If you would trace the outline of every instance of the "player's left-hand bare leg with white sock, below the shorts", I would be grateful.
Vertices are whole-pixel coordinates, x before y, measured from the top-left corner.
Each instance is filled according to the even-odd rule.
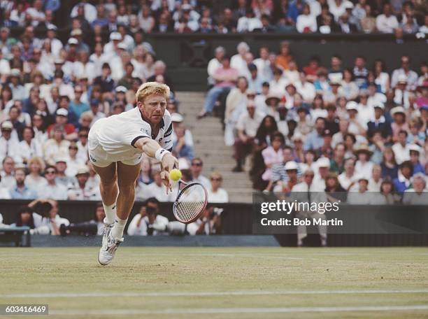
[[[106,212],[106,223],[113,224],[116,218],[116,199],[117,199],[117,173],[116,163],[113,162],[106,167],[99,167],[92,164],[101,179],[99,190],[103,201],[104,211]]]

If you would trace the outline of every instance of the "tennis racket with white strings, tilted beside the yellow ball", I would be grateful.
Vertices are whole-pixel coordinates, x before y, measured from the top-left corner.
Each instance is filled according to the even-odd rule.
[[[178,194],[173,204],[173,213],[179,222],[190,224],[204,212],[208,193],[201,183],[185,183],[178,180]]]

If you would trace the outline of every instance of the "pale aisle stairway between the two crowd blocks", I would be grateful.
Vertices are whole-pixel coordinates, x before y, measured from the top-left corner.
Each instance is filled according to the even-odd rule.
[[[204,104],[202,92],[177,92],[180,113],[185,125],[193,134],[194,154],[204,161],[204,176],[219,171],[223,176],[223,187],[229,193],[231,202],[250,202],[252,187],[247,172],[233,173],[235,161],[233,148],[224,145],[222,125],[218,118],[197,120],[197,114]]]

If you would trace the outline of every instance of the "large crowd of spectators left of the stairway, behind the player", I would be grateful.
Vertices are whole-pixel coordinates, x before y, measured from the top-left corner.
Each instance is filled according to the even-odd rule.
[[[90,127],[134,108],[138,87],[157,81],[171,87],[167,110],[180,169],[207,187],[208,201],[227,201],[222,176],[201,175],[166,65],[143,41],[148,6],[138,6],[134,25],[128,13],[136,2],[131,9],[124,1],[78,3],[63,43],[54,24],[58,2],[0,1],[0,199],[100,200],[99,176],[87,158]],[[23,27],[19,36],[14,27]],[[166,195],[159,169],[157,161],[143,159],[138,200],[175,199]]]

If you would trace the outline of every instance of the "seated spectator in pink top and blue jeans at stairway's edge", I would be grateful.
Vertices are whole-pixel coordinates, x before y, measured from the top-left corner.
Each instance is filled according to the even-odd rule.
[[[204,110],[199,113],[198,118],[204,118],[208,113],[213,112],[215,102],[220,97],[220,94],[229,92],[235,86],[236,80],[238,80],[238,70],[230,66],[229,57],[224,56],[222,58],[222,66],[215,71],[213,78],[215,85],[208,91]]]

